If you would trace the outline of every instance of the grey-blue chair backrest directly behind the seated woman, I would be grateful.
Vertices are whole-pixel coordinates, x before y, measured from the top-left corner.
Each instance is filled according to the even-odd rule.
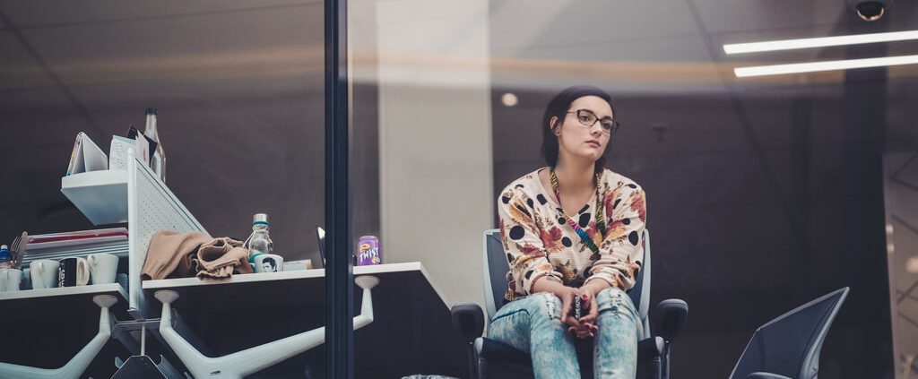
[[[498,309],[504,305],[504,294],[507,292],[507,272],[509,262],[507,252],[504,251],[500,241],[500,231],[490,229],[485,231],[485,246],[483,258],[485,264],[485,306],[487,318],[494,318]],[[650,232],[644,229],[644,261],[638,271],[633,288],[628,291],[634,307],[638,308],[644,326],[644,338],[650,336],[650,322],[647,310],[650,308]]]

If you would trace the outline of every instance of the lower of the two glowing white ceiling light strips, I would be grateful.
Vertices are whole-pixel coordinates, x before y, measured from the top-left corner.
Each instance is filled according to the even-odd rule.
[[[845,61],[814,61],[812,63],[775,64],[771,66],[738,67],[733,69],[737,78],[748,76],[780,75],[785,73],[821,72],[833,70],[863,69],[868,67],[918,64],[918,55],[868,58]]]

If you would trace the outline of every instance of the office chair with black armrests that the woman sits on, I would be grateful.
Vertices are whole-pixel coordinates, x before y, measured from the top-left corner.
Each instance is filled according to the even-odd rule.
[[[488,319],[494,318],[504,305],[507,291],[509,263],[497,229],[485,232],[485,306]],[[639,330],[638,370],[640,379],[668,379],[669,350],[673,340],[685,325],[689,305],[679,299],[660,302],[654,312],[656,335],[651,334],[648,308],[650,307],[650,233],[644,231],[644,261],[634,287],[628,292],[641,317]],[[532,360],[529,351],[519,351],[508,344],[482,337],[485,329],[484,312],[476,304],[453,306],[453,328],[469,345],[468,365],[472,378],[531,378]],[[592,375],[592,340],[578,340],[577,357],[584,377]]]

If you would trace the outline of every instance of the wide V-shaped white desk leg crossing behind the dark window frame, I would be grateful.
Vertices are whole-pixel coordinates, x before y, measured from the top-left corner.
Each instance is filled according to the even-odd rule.
[[[373,322],[373,295],[370,290],[379,284],[379,279],[364,275],[357,277],[354,281],[364,289],[360,316],[353,318],[353,329],[356,330]],[[160,318],[162,339],[169,344],[169,347],[175,351],[175,355],[197,378],[241,379],[245,375],[261,371],[325,342],[325,327],[321,327],[222,357],[207,357],[173,329],[172,303],[178,299],[178,294],[164,290],[157,291],[155,296],[162,302],[162,317]]]

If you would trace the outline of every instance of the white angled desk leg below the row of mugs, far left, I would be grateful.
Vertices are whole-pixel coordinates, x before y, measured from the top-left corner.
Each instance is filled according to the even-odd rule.
[[[0,363],[0,379],[76,379],[80,377],[111,337],[111,318],[108,315],[108,308],[118,303],[118,299],[113,295],[95,295],[93,302],[102,309],[99,312],[99,332],[73,356],[70,362],[57,369]]]

